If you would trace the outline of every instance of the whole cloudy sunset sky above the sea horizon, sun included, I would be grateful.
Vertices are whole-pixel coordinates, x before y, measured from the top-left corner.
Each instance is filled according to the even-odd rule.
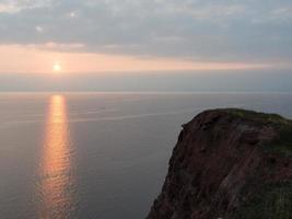
[[[291,69],[291,0],[0,0],[0,91],[292,91]]]

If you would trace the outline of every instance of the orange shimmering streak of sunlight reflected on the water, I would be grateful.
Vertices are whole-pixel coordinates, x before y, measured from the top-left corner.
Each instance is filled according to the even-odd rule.
[[[38,184],[42,219],[69,218],[74,209],[71,169],[66,100],[62,95],[52,95],[49,100]]]

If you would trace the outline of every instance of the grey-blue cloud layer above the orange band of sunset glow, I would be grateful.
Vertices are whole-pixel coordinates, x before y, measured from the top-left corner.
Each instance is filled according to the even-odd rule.
[[[0,1],[1,44],[207,61],[289,61],[289,0]],[[54,49],[59,49],[55,47]]]

